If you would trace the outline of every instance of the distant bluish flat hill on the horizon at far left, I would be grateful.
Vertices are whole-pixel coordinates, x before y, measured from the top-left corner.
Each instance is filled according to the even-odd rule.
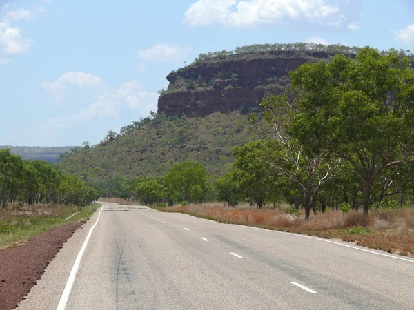
[[[60,154],[68,152],[72,147],[17,147],[10,145],[0,146],[0,149],[10,149],[13,154],[20,155],[23,159],[41,159],[43,161],[49,161],[57,163],[57,158]]]

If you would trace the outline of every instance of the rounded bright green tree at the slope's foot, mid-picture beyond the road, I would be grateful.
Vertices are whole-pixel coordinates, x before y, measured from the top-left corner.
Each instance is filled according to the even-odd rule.
[[[198,185],[203,191],[206,187],[206,168],[201,163],[184,161],[170,169],[165,179],[166,187],[176,199],[190,201],[199,192]],[[198,194],[197,194],[198,198]]]

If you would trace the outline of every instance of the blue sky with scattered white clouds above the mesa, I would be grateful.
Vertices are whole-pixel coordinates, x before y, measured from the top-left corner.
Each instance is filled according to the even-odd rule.
[[[414,1],[0,0],[0,145],[95,145],[200,53],[304,41],[414,50]]]

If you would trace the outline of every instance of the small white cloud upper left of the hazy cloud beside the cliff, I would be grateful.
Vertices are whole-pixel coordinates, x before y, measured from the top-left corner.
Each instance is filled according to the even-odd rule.
[[[67,71],[55,81],[42,83],[42,86],[55,96],[62,97],[63,90],[67,85],[74,85],[79,88],[97,87],[103,82],[103,79],[90,73]]]

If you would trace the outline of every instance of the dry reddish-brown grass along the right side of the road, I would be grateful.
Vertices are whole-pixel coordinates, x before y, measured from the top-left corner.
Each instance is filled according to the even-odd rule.
[[[190,213],[190,206],[157,208],[161,211]],[[368,218],[362,212],[343,213],[327,211],[316,214],[305,222],[290,216],[283,209],[253,209],[251,207],[226,207],[220,203],[193,205],[191,214],[201,218],[308,234],[323,238],[339,238],[357,245],[382,249],[395,254],[414,257],[414,209],[371,211]],[[363,226],[371,234],[349,234],[348,229]]]

